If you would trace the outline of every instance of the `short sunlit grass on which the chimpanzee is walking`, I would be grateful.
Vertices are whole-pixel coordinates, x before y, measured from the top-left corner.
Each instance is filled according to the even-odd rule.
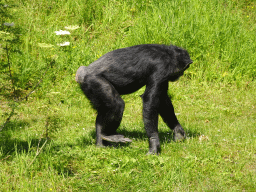
[[[133,143],[116,148],[95,147],[95,112],[77,87],[76,101],[62,103],[52,93],[49,101],[20,105],[2,132],[2,190],[255,190],[255,84],[241,89],[181,79],[171,85],[189,138],[174,143],[160,121],[159,156],[145,155],[148,143],[136,93],[124,97],[119,129]],[[50,139],[36,156],[46,141],[47,121]]]

